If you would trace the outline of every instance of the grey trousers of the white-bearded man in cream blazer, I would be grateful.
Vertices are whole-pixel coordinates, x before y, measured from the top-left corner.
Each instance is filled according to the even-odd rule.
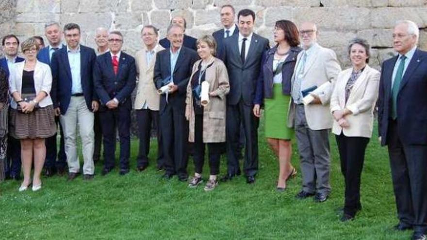
[[[304,105],[298,104],[295,109],[295,136],[301,159],[302,190],[329,194],[329,129],[310,129]]]

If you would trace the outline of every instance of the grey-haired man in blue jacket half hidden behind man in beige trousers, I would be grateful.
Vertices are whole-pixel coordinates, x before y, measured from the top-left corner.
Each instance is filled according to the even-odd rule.
[[[50,22],[45,25],[45,35],[48,39],[49,45],[37,53],[37,60],[50,65],[52,54],[63,48],[64,45],[61,43],[61,27],[57,22]],[[50,93],[52,95],[52,93]],[[55,117],[55,122],[58,125],[59,116]],[[61,140],[59,142],[59,152],[57,153],[56,134],[47,138],[46,144],[46,160],[44,165],[44,176],[53,176],[56,172],[62,176],[65,174],[66,169],[66,154],[64,147],[64,131],[61,124],[59,124]],[[58,161],[56,161],[56,154],[58,154]]]

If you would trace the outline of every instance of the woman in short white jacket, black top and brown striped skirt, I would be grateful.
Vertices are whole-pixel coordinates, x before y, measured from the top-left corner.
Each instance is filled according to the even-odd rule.
[[[24,180],[19,192],[31,184],[31,167],[34,159],[33,191],[41,188],[40,173],[46,157],[45,138],[53,136],[56,125],[52,99],[49,92],[52,74],[48,64],[36,60],[39,47],[30,38],[21,44],[25,61],[14,64],[10,71],[10,134],[21,142],[21,160]]]

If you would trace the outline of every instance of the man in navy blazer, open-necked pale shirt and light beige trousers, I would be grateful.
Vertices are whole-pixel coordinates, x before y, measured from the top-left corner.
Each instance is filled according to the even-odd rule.
[[[94,112],[98,111],[98,97],[93,83],[95,50],[80,44],[80,27],[75,23],[64,26],[67,46],[52,54],[51,97],[56,115],[61,115],[68,163],[68,180],[80,173],[77,152],[77,127],[82,139],[83,179],[94,176]],[[78,126],[77,126],[78,125]]]

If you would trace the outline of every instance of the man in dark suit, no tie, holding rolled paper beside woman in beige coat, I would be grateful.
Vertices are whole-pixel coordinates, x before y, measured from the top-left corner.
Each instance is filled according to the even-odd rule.
[[[169,179],[178,174],[180,181],[187,181],[188,122],[185,119],[185,96],[188,80],[197,61],[197,52],[182,46],[184,28],[172,24],[167,28],[170,48],[157,53],[154,82],[160,89],[170,84],[169,92],[160,97],[160,128],[166,173]]]

